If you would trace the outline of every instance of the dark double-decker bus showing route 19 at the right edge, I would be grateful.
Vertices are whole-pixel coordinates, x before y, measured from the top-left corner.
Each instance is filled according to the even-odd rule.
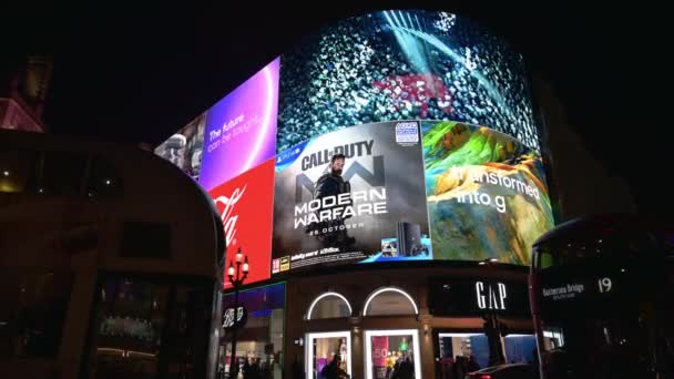
[[[533,245],[542,379],[674,378],[674,228],[635,215],[575,219]]]

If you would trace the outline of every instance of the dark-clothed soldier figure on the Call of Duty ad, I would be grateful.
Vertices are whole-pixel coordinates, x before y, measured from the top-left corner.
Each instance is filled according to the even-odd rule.
[[[314,199],[323,199],[329,196],[337,197],[337,195],[351,192],[350,183],[341,177],[341,171],[344,170],[346,156],[344,154],[333,155],[328,165],[328,173],[321,175],[316,181],[316,185],[314,186]],[[351,204],[353,199],[349,197],[349,204],[347,206],[350,206]],[[345,206],[336,204],[329,207],[321,207],[318,209],[318,213],[320,211],[337,207],[344,208]],[[356,238],[348,236],[346,226],[344,225],[344,221],[349,217],[350,215],[346,217],[336,216],[330,221],[312,223],[307,226],[306,232],[316,232],[315,235],[318,240],[320,240],[323,247],[338,247],[340,252],[348,252],[356,242]]]

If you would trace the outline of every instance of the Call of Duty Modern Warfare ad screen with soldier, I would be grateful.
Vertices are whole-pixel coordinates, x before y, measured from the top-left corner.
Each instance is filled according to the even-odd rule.
[[[276,157],[272,273],[432,259],[416,121],[343,129]]]

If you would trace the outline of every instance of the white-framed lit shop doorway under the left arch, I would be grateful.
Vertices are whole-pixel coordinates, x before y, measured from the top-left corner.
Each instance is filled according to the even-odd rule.
[[[324,379],[323,370],[339,356],[338,369],[351,376],[351,334],[345,331],[306,335],[307,379]]]

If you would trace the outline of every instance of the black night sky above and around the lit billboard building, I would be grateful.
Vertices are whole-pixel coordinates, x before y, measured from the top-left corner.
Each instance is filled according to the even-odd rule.
[[[666,215],[674,141],[662,60],[671,21],[646,2],[588,2],[23,1],[6,13],[16,17],[4,18],[3,35],[6,59],[53,54],[53,133],[155,143],[321,23],[368,9],[440,8],[510,40],[552,84],[586,148],[630,183],[640,211]]]

